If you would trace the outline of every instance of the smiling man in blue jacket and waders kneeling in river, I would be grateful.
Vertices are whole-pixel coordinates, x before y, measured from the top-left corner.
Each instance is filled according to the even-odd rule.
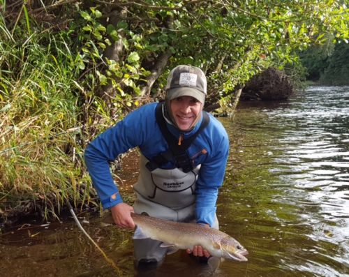
[[[144,105],[96,137],[85,151],[89,174],[104,209],[119,227],[135,227],[131,213],[218,229],[216,200],[228,158],[228,135],[202,109],[207,81],[200,68],[177,66],[168,76],[165,103]],[[133,207],[122,201],[109,162],[128,149],[140,149],[140,176]],[[159,263],[167,249],[160,241],[135,239],[136,267]],[[188,249],[209,257],[201,246]]]

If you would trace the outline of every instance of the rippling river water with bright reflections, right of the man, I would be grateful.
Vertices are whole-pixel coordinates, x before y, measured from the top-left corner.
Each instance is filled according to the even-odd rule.
[[[242,103],[225,126],[231,189],[220,201],[245,227],[247,276],[349,276],[349,88]]]

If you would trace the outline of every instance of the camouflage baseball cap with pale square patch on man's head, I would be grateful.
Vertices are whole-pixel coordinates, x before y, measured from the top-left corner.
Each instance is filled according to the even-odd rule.
[[[180,96],[192,96],[201,103],[205,103],[205,97],[207,95],[205,73],[195,66],[176,66],[168,75],[165,91],[168,100]]]

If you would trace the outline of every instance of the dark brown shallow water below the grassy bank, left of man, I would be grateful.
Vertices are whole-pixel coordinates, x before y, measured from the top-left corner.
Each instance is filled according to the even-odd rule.
[[[86,216],[93,218],[80,217],[80,221],[91,237],[121,269],[133,271],[131,234],[104,225],[96,213]],[[72,220],[44,225],[32,222],[0,239],[1,277],[116,276]]]

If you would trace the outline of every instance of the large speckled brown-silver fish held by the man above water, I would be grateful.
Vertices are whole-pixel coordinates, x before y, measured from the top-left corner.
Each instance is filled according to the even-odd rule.
[[[202,246],[213,257],[246,262],[247,250],[228,234],[195,223],[178,223],[170,220],[131,214],[137,225],[134,239],[162,241],[161,247],[169,247],[168,254],[178,249]],[[211,259],[210,259],[211,260]]]

